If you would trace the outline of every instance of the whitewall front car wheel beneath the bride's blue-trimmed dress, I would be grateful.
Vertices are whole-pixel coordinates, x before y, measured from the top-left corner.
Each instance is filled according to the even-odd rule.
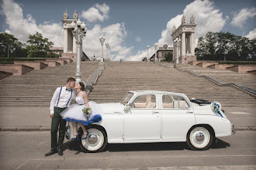
[[[106,148],[107,137],[106,132],[102,128],[98,126],[91,126],[87,128],[87,131],[88,138],[82,140],[81,135],[79,135],[78,138],[82,151],[95,153],[102,151],[104,148]],[[80,134],[83,134],[83,132],[81,131]]]

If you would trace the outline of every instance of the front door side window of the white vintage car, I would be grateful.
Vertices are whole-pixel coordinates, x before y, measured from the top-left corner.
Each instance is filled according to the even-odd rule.
[[[154,95],[140,95],[133,101],[130,107],[144,109],[154,108],[156,107],[156,97]]]

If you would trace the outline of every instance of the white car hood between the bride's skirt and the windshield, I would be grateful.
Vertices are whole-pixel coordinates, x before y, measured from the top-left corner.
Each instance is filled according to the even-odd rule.
[[[122,114],[124,106],[121,103],[99,104],[104,114]]]

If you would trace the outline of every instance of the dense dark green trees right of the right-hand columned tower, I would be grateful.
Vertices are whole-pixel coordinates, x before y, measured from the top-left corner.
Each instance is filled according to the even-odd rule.
[[[195,55],[202,60],[255,61],[256,39],[230,32],[208,32],[205,37],[199,37]]]

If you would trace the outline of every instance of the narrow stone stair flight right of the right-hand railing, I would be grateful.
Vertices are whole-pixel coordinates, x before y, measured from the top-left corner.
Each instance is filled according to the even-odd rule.
[[[192,66],[190,64],[179,64],[182,70],[192,70],[200,75],[213,76],[217,80],[225,83],[239,83],[253,90],[256,90],[256,75],[251,73],[236,73],[231,70],[216,70],[210,68],[202,68],[199,66]]]

